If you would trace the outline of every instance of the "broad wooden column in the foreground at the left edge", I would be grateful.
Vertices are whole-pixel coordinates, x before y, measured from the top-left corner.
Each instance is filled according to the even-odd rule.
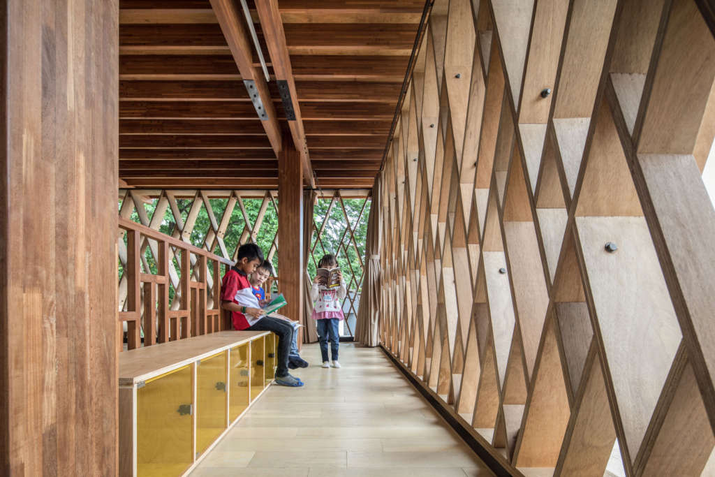
[[[0,475],[117,473],[118,16],[0,9]]]

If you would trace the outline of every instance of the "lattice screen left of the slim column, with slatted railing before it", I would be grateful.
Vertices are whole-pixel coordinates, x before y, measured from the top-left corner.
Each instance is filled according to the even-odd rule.
[[[211,333],[221,328],[219,320],[218,290],[220,277],[224,270],[220,264],[228,265],[235,261],[238,247],[245,242],[258,242],[267,249],[267,260],[272,263],[277,259],[277,197],[275,191],[170,191],[170,190],[121,190],[119,192],[120,237],[117,242],[119,250],[119,311],[120,319],[127,320],[127,345],[129,349],[139,346],[139,320],[144,330],[147,323],[144,320],[147,310],[155,310],[158,315],[158,341],[187,338],[191,335]],[[249,203],[252,202],[252,203]],[[238,206],[238,207],[237,207]],[[249,210],[252,207],[252,212]],[[147,210],[148,209],[148,210]],[[265,220],[267,212],[272,210],[271,220]],[[149,212],[151,211],[151,212]],[[127,245],[133,240],[132,234],[125,231],[131,228],[132,220],[136,220],[146,229],[139,238],[137,260],[139,261],[139,279],[133,272],[136,267],[128,267],[127,259],[132,258],[132,250]],[[123,224],[123,226],[122,226]],[[225,237],[230,226],[238,227],[240,232],[232,234],[234,242],[227,244]],[[156,231],[156,235],[149,232]],[[159,233],[159,232],[163,232]],[[138,232],[137,232],[138,233]],[[163,235],[169,235],[174,242],[168,243],[168,259],[159,250]],[[184,270],[184,257],[189,257],[190,269]],[[133,260],[133,259],[132,259]],[[166,261],[166,272],[159,270]],[[126,270],[126,272],[125,272]],[[164,275],[166,278],[156,278]],[[185,280],[182,277],[187,277]],[[276,280],[275,267],[272,281]],[[134,288],[129,290],[129,282],[144,283],[139,301],[133,296]],[[155,282],[158,285],[159,297],[167,294],[168,310],[163,310],[162,300],[157,295],[146,300],[148,293],[154,293],[154,288],[147,285]],[[137,287],[139,285],[136,285]],[[269,287],[272,286],[270,283]],[[165,290],[164,290],[165,288]],[[192,294],[187,300],[187,292]],[[195,290],[195,291],[194,291]],[[170,296],[169,296],[170,295]],[[157,301],[156,308],[147,303]],[[131,310],[137,310],[137,320]],[[192,313],[189,313],[191,311]],[[199,313],[194,318],[194,314]],[[207,325],[200,317],[215,317],[208,320]],[[164,318],[166,317],[166,318]],[[164,334],[162,323],[167,325],[171,333]],[[195,327],[195,328],[194,328]],[[147,335],[150,333],[144,333]],[[144,337],[144,345],[154,343],[153,339]]]

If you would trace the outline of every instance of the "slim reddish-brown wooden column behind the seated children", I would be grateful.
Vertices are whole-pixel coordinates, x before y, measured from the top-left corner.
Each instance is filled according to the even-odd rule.
[[[278,277],[288,304],[284,314],[303,322],[303,174],[289,136],[278,154]]]

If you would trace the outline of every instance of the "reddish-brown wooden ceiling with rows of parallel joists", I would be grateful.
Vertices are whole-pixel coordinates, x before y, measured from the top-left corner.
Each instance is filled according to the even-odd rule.
[[[425,1],[280,0],[271,11],[275,1],[248,1],[275,112],[260,121],[242,80],[260,89],[265,79],[239,0],[120,0],[127,185],[277,187],[276,138],[287,134],[299,151],[307,143],[304,175],[312,169],[317,186],[372,187]],[[276,79],[295,82],[296,121]]]

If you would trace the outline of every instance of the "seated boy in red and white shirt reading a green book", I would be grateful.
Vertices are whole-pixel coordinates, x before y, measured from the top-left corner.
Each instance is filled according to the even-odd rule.
[[[285,320],[263,315],[260,304],[253,295],[248,275],[263,262],[263,252],[258,245],[248,243],[238,249],[236,265],[230,268],[221,282],[221,308],[231,312],[233,328],[248,331],[272,331],[278,337],[278,363],[275,383],[294,388],[302,381],[288,373],[288,352],[293,341],[293,327]]]

